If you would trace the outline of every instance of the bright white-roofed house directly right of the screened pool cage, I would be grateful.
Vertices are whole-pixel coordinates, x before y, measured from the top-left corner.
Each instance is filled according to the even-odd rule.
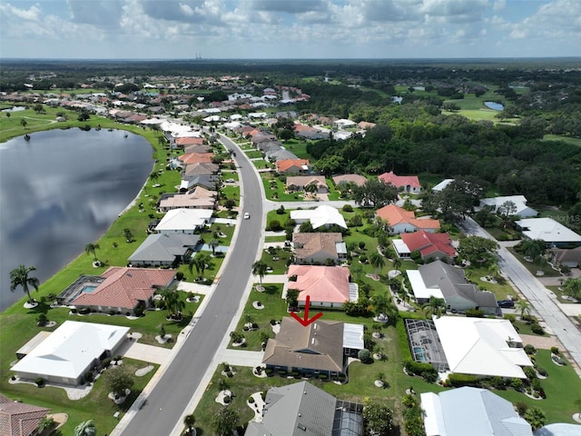
[[[533,366],[522,339],[508,320],[434,317],[450,372],[526,379]]]

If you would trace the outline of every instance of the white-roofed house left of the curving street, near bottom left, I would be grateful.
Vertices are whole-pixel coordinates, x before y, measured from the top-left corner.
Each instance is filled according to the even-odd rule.
[[[23,379],[78,384],[104,356],[125,341],[129,327],[65,321],[11,369]]]

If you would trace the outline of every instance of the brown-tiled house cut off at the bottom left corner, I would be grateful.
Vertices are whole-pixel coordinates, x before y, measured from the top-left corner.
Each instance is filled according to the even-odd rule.
[[[11,400],[0,393],[0,434],[32,436],[50,409]]]

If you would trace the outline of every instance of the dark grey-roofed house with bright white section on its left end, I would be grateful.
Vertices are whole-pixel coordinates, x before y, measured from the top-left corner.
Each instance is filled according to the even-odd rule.
[[[434,261],[406,273],[418,304],[425,304],[430,297],[436,297],[444,299],[447,310],[451,312],[479,309],[487,315],[502,313],[494,293],[478,291],[474,283],[468,282],[461,268]]]

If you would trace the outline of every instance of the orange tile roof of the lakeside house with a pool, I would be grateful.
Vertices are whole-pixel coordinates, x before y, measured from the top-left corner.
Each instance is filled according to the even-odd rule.
[[[72,304],[133,310],[140,300],[151,298],[157,287],[172,282],[174,275],[172,270],[112,266],[103,272],[105,280],[94,292],[81,293]]]

